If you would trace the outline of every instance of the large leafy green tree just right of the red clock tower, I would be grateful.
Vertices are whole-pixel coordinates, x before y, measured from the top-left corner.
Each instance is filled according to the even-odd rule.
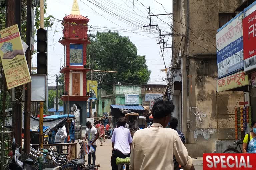
[[[137,47],[129,37],[118,32],[97,32],[90,36],[87,47],[87,65],[95,70],[118,71],[118,73],[93,72],[93,80],[100,87],[112,92],[112,84],[146,84],[151,71],[146,65],[146,56],[137,54]],[[88,74],[88,80],[91,79]]]

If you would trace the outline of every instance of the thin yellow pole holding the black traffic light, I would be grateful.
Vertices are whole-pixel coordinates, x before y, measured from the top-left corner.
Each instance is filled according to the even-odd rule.
[[[44,0],[40,0],[40,28],[44,28]],[[48,97],[48,96],[46,96]],[[44,102],[40,102],[39,113],[39,146],[43,148],[43,117],[44,117]]]

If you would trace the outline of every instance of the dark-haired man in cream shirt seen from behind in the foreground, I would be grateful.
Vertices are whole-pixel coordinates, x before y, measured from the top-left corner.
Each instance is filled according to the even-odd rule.
[[[153,124],[135,132],[131,148],[130,170],[173,170],[173,155],[184,170],[195,170],[192,159],[176,130],[168,125],[174,105],[155,102]]]

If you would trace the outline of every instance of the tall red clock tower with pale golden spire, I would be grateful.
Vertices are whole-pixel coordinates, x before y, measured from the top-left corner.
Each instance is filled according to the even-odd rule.
[[[80,124],[86,124],[86,48],[90,44],[87,37],[89,19],[80,15],[77,0],[74,0],[71,14],[62,20],[63,37],[59,42],[64,46],[64,114],[70,113],[75,104],[80,110]]]

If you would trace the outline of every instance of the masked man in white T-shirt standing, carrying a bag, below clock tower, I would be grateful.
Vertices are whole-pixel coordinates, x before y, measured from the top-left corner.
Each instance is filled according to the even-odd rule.
[[[95,152],[93,153],[89,153],[88,154],[88,164],[91,164],[91,160],[92,160],[92,164],[95,165],[95,161],[96,161],[96,148],[97,148],[97,139],[99,137],[97,129],[92,126],[91,122],[86,122],[86,132],[85,132],[85,140],[88,139],[88,148],[90,150],[91,145],[94,147]]]

